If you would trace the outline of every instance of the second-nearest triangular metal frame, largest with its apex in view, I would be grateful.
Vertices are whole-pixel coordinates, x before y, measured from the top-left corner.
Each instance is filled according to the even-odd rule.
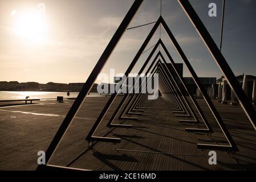
[[[197,147],[202,148],[202,149],[238,151],[238,148],[237,148],[233,138],[231,137],[231,135],[229,134],[229,131],[227,130],[227,128],[225,126],[225,123],[222,121],[222,118],[218,114],[218,112],[217,112],[216,108],[214,107],[212,101],[210,100],[208,94],[204,90],[204,87],[202,86],[201,81],[199,80],[196,72],[194,72],[194,69],[192,68],[192,65],[189,63],[188,59],[185,56],[185,53],[182,51],[182,49],[181,49],[180,45],[178,44],[176,38],[174,38],[172,32],[170,31],[169,27],[167,26],[167,24],[165,23],[165,21],[164,21],[164,19],[162,18],[161,15],[160,15],[159,19],[157,20],[157,22],[155,23],[155,25],[153,26],[152,30],[149,32],[149,35],[145,39],[143,45],[141,46],[141,48],[137,52],[135,58],[133,59],[132,63],[129,65],[129,67],[128,67],[128,69],[127,69],[127,71],[125,72],[124,75],[127,77],[128,73],[130,73],[132,71],[132,68],[137,63],[137,60],[139,60],[139,57],[140,57],[141,53],[144,51],[144,49],[147,46],[149,40],[151,40],[153,34],[157,30],[157,28],[160,26],[160,24],[163,26],[164,30],[166,31],[166,34],[169,36],[169,38],[170,38],[171,42],[173,43],[173,46],[176,48],[177,52],[180,54],[180,56],[182,58],[182,61],[185,63],[186,67],[188,68],[190,74],[193,77],[193,80],[196,82],[197,87],[201,90],[201,93],[204,97],[204,100],[206,101],[206,104],[208,104],[209,109],[212,111],[212,114],[214,115],[214,118],[216,119],[218,125],[220,126],[220,128],[222,130],[222,133],[225,135],[227,141],[229,142],[229,146],[220,146],[218,144],[197,144]],[[165,48],[165,46],[162,46],[162,47]],[[92,126],[91,131],[87,135],[86,140],[88,140],[88,142],[94,142],[94,141],[112,142],[112,143],[120,142],[120,138],[106,138],[106,137],[95,137],[95,136],[93,136],[97,127],[99,126],[100,122],[102,121],[104,115],[107,113],[109,107],[112,105],[112,103],[115,100],[118,93],[119,92],[112,94],[111,97],[109,98],[107,104],[104,106],[104,108],[101,111],[99,117],[97,118],[94,126]]]

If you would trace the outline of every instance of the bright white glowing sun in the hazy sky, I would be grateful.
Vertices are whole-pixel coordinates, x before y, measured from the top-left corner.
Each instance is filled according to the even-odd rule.
[[[46,38],[46,18],[37,11],[24,11],[15,15],[14,32],[16,35],[28,39],[40,41]]]

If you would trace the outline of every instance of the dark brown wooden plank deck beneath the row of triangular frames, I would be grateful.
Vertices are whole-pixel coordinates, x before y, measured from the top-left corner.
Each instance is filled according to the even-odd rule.
[[[241,107],[214,101],[239,152],[231,155],[216,151],[217,165],[210,165],[209,151],[198,150],[196,144],[225,144],[226,141],[203,100],[198,102],[213,126],[212,136],[186,132],[186,127],[197,126],[179,123],[181,117],[175,117],[161,97],[151,101],[142,115],[136,115],[138,121],[124,122],[133,125],[132,129],[109,129],[105,127],[108,118],[122,97],[117,97],[95,133],[100,137],[121,138],[121,143],[98,142],[92,149],[88,148],[85,138],[109,97],[86,98],[50,164],[93,170],[256,169],[256,131]],[[36,169],[37,152],[47,149],[72,102],[48,100],[0,107],[0,169]],[[115,123],[120,121],[116,119]]]

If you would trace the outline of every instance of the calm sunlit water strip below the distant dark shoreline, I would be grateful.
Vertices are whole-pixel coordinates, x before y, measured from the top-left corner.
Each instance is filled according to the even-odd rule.
[[[57,96],[63,96],[64,98],[77,97],[79,92],[70,92],[70,96],[67,96],[67,92],[15,92],[15,91],[0,91],[0,100],[16,100],[29,98],[57,98]],[[98,93],[90,93],[87,97],[100,97]],[[102,97],[102,96],[101,96]]]

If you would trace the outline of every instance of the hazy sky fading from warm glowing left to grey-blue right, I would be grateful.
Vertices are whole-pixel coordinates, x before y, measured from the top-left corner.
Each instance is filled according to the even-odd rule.
[[[222,0],[189,2],[219,46]],[[132,3],[133,0],[0,0],[0,81],[85,82]],[[216,3],[216,17],[208,15],[209,3]],[[253,0],[226,0],[222,54],[235,75],[256,75],[255,8]],[[154,22],[159,15],[160,0],[144,0],[129,27]],[[221,77],[177,0],[162,0],[162,17],[197,75]],[[124,73],[152,27],[153,24],[125,31],[101,72],[109,75],[110,69],[115,69],[116,75]],[[160,28],[147,48],[156,44],[159,36]],[[174,61],[182,63],[163,30],[161,39]],[[150,50],[141,55],[133,73],[139,71],[149,53]],[[190,76],[185,65],[184,76]]]

